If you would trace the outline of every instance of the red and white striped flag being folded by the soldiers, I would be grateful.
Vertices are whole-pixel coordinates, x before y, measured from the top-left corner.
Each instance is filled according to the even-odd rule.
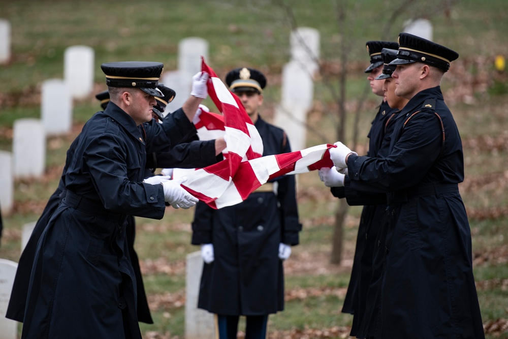
[[[333,166],[328,149],[335,146],[330,144],[261,157],[263,142],[241,101],[204,60],[202,71],[210,75],[208,95],[223,115],[203,111],[196,123],[198,135],[206,140],[225,133],[228,148],[225,160],[186,174],[182,187],[189,193],[218,209],[244,201],[263,183],[278,176]]]

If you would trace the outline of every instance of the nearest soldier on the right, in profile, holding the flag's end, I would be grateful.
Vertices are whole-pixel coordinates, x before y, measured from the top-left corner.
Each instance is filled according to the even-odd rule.
[[[408,103],[395,117],[388,156],[359,157],[342,143],[330,151],[352,187],[388,192],[375,338],[484,338],[472,272],[471,233],[458,189],[462,142],[443,101],[441,78],[455,51],[399,35],[395,94]],[[385,227],[385,224],[383,224]]]

